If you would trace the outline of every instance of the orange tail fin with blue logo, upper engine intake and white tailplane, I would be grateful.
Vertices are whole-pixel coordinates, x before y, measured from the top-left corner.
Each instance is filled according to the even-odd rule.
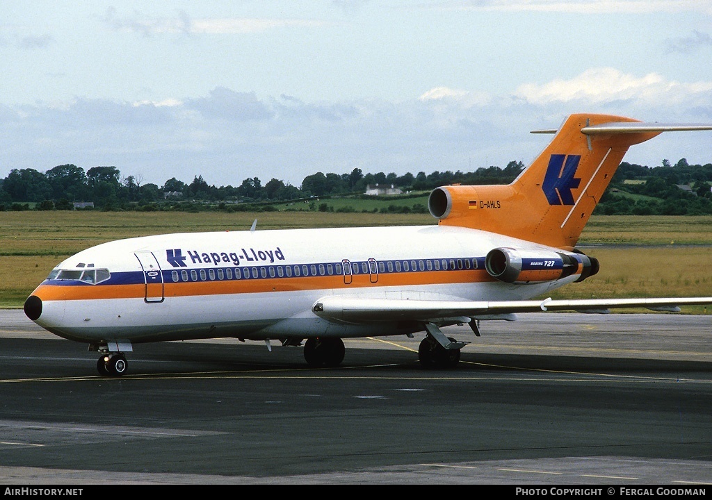
[[[436,188],[428,201],[430,213],[440,224],[572,250],[630,146],[661,132],[708,129],[712,125],[570,115],[548,147],[511,184]]]

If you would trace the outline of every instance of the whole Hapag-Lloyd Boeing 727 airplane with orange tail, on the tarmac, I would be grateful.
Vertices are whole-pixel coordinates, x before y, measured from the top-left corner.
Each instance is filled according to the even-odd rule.
[[[101,376],[127,373],[134,344],[236,338],[303,346],[339,366],[342,339],[412,338],[424,368],[452,368],[469,341],[446,326],[516,313],[712,304],[712,297],[537,299],[595,275],[578,238],[627,149],[661,132],[710,130],[602,114],[567,117],[508,185],[431,191],[437,224],[179,233],[116,240],[61,262],[24,303],[53,334],[98,351]]]

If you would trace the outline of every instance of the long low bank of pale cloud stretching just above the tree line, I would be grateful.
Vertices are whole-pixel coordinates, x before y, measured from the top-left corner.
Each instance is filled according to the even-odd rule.
[[[84,169],[114,165],[122,174],[142,174],[158,185],[197,175],[216,185],[236,186],[258,176],[298,186],[317,171],[471,171],[528,163],[546,141],[528,131],[554,128],[571,112],[710,122],[711,102],[712,83],[602,68],[570,80],[522,85],[515,95],[434,87],[401,102],[306,102],[215,87],[204,97],[156,102],[84,98],[63,106],[0,105],[6,145],[0,178],[14,168],[46,171],[66,163]],[[709,142],[699,136],[666,139],[634,149],[627,161],[649,166],[665,157],[712,161]]]

